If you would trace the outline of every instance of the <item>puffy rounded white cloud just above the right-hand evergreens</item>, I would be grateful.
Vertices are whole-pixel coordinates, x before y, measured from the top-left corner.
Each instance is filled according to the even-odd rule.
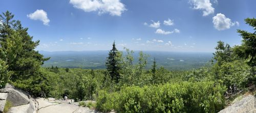
[[[216,16],[212,17],[212,23],[214,23],[215,29],[227,30],[230,29],[231,26],[239,25],[239,22],[231,22],[231,19],[227,18],[224,14],[218,13]]]

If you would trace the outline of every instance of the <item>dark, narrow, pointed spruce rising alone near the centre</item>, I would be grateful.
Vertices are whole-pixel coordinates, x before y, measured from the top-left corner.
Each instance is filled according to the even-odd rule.
[[[118,50],[116,49],[116,45],[114,41],[113,47],[109,52],[109,57],[106,59],[106,63],[105,63],[106,70],[108,70],[108,72],[110,73],[111,80],[115,80],[116,83],[118,83],[120,79],[120,73],[119,73],[120,60],[118,59],[117,52]]]

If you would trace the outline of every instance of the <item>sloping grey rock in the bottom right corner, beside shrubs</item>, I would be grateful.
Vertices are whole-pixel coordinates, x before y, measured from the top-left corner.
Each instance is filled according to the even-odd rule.
[[[252,95],[248,95],[241,99],[240,101],[237,101],[236,103],[226,107],[225,109],[222,109],[219,113],[227,113],[227,112],[237,112],[237,113],[253,113],[255,112],[255,102],[256,99]]]

